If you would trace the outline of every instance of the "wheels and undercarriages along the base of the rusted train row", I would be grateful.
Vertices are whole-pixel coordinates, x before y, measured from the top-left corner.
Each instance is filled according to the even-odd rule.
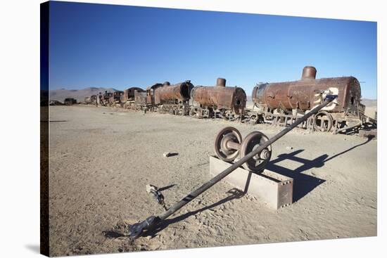
[[[183,101],[165,102],[163,105],[144,105],[135,101],[127,101],[122,108],[144,111],[160,112],[162,114],[182,115],[196,118],[223,119],[237,121],[246,124],[272,124],[273,126],[288,127],[298,118],[307,114],[303,110],[278,110],[259,108],[258,110],[244,110],[243,115],[236,114],[233,110],[213,109],[198,105],[189,105]],[[348,110],[347,112],[319,111],[305,122],[298,125],[299,128],[310,131],[331,132],[332,134],[353,134],[360,129],[375,129],[376,120],[364,115],[364,108]]]

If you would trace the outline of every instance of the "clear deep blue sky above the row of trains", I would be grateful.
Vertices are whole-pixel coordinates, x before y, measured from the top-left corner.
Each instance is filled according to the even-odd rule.
[[[50,88],[241,86],[354,76],[376,98],[376,22],[51,2]]]

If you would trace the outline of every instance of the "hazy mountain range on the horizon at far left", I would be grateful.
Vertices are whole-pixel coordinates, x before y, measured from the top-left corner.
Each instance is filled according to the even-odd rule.
[[[84,98],[105,91],[113,92],[116,91],[116,89],[96,87],[89,87],[86,89],[54,89],[49,91],[49,99],[63,102],[65,98],[75,98],[77,102],[84,102]]]

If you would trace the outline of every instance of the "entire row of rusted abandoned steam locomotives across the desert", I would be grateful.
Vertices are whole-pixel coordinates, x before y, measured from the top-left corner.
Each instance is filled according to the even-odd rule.
[[[315,67],[306,66],[298,81],[257,84],[251,94],[252,108],[246,108],[246,92],[238,86],[226,86],[223,78],[218,78],[215,86],[194,86],[185,81],[158,83],[146,90],[132,87],[87,97],[85,103],[286,126],[322,103],[326,94],[334,94],[338,97],[332,103],[300,127],[348,133],[376,126],[376,120],[364,115],[360,83],[355,77],[316,79],[316,73]]]

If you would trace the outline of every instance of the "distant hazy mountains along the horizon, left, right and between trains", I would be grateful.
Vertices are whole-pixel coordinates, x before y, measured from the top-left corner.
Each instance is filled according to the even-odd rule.
[[[55,89],[55,90],[49,91],[49,98],[50,100],[61,101],[61,102],[63,102],[65,98],[75,98],[77,102],[84,102],[84,98],[89,97],[91,95],[96,95],[99,92],[103,93],[105,91],[117,91],[117,90],[113,88],[96,88],[96,87],[89,87],[86,89]],[[247,100],[251,101],[251,96],[247,96]],[[363,98],[362,103],[367,107],[376,107],[377,100]]]

